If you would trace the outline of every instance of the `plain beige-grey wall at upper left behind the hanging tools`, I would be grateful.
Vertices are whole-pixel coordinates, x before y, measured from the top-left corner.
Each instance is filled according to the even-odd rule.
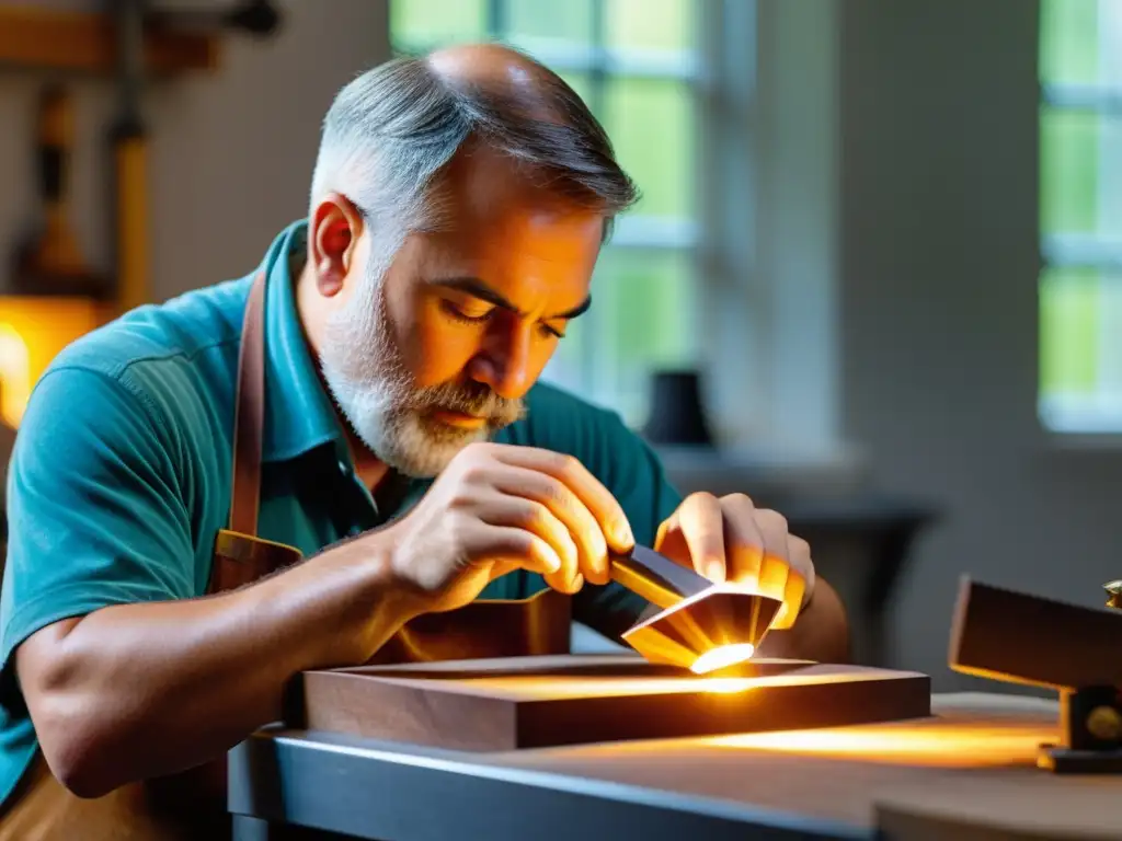
[[[252,270],[279,228],[305,213],[320,121],[331,98],[388,54],[384,0],[278,4],[286,25],[273,39],[228,36],[217,75],[159,83],[147,95],[151,288],[159,301]],[[38,75],[0,73],[4,253],[34,196],[40,82]],[[89,260],[108,271],[111,158],[104,137],[113,86],[82,80],[74,91],[74,222]],[[8,261],[0,260],[0,285],[8,271]]]

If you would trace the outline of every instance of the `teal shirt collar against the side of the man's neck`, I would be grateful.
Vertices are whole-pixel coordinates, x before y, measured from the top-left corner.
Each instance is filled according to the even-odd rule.
[[[320,380],[296,309],[295,281],[306,252],[307,222],[285,228],[273,241],[261,269],[265,290],[266,423],[261,456],[285,461],[346,437]]]

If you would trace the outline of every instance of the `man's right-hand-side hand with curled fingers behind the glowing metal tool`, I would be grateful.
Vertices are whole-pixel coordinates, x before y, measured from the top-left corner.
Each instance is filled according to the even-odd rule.
[[[783,602],[773,628],[791,628],[815,591],[810,545],[787,519],[743,493],[687,497],[659,528],[654,549],[710,581],[728,581]]]

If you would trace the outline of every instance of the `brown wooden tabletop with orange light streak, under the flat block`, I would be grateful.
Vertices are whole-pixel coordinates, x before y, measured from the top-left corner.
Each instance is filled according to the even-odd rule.
[[[369,750],[371,761],[399,751],[411,766],[433,758],[467,764],[459,773],[468,775],[513,779],[523,771],[535,789],[557,780],[560,792],[565,780],[583,780],[601,797],[617,795],[599,789],[662,792],[698,814],[743,807],[746,823],[757,820],[753,814],[770,814],[837,829],[818,837],[1122,839],[1122,775],[1066,776],[1036,767],[1037,746],[1058,736],[1055,701],[935,695],[932,712],[930,719],[888,724],[511,752],[413,751],[361,740],[350,749]],[[294,736],[319,738],[294,731],[275,738]],[[335,746],[339,739],[331,737]],[[427,829],[411,833],[407,821],[393,825],[401,841],[429,837]],[[592,841],[590,832],[583,830],[583,841]]]

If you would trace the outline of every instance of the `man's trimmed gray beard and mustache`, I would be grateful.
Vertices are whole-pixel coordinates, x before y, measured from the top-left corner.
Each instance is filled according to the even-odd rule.
[[[405,475],[432,478],[468,444],[522,417],[524,406],[477,382],[416,388],[394,340],[385,269],[371,249],[360,288],[328,321],[320,366],[335,405],[370,452]],[[425,416],[438,408],[487,423],[462,429]]]

